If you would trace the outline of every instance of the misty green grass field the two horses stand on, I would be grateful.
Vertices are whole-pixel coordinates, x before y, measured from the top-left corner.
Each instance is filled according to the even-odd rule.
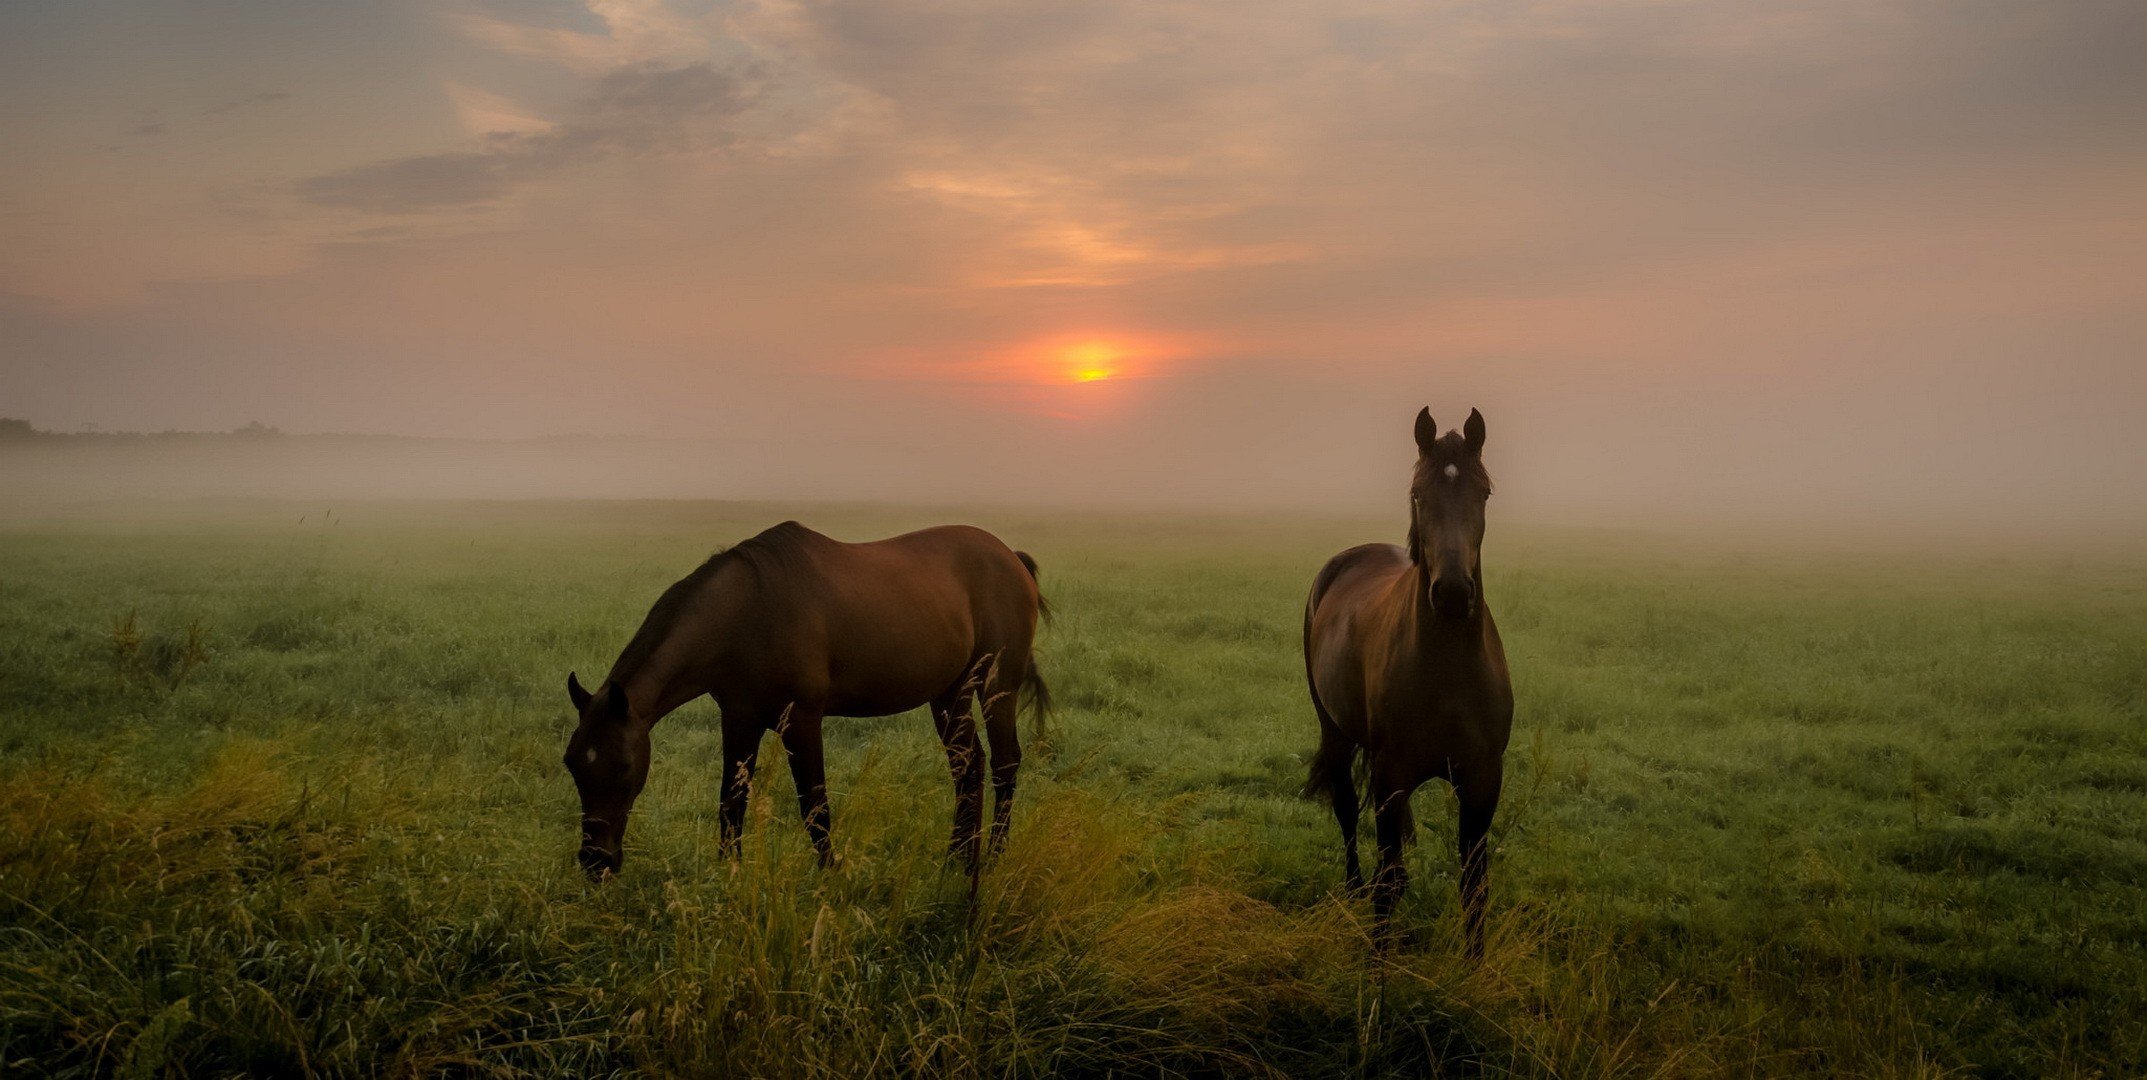
[[[1061,713],[945,865],[921,715],[829,724],[715,848],[713,706],[573,867],[569,668],[786,515],[230,505],[0,526],[0,1074],[2136,1076],[2147,571],[1492,524],[1520,698],[1492,947],[1417,799],[1374,960],[1295,797],[1320,560],[1396,522],[970,515],[1035,552]],[[777,751],[773,745],[769,751]]]

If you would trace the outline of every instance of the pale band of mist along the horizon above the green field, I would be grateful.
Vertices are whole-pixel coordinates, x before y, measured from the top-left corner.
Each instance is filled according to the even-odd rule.
[[[159,434],[0,440],[0,496],[32,507],[191,498],[715,498],[1050,507],[1065,511],[1250,511],[1378,520],[1400,528],[1413,451],[1408,410],[1365,404],[1368,423],[1312,432],[1273,425],[1232,442],[1209,423],[1127,421],[1106,432],[1022,432],[992,444],[988,425],[953,440],[792,440],[554,436],[528,440]],[[1451,414],[1451,410],[1449,410]],[[1456,421],[1466,410],[1456,414]],[[1372,423],[1372,421],[1378,423]],[[2059,550],[2147,543],[2147,498],[2134,459],[2044,459],[2033,477],[1997,479],[2038,453],[1969,472],[1945,447],[1898,447],[1846,459],[1823,440],[1773,451],[1769,434],[1707,440],[1670,432],[1604,432],[1580,423],[1494,427],[1494,520],[1621,526],[1707,537],[1840,541],[1917,539],[1990,545],[2031,537]],[[1400,447],[1398,447],[1400,444]],[[1020,449],[1016,449],[1020,447]],[[1743,457],[1739,457],[1739,447]],[[1986,453],[1980,457],[1995,457]],[[2042,455],[2050,457],[2050,455]]]

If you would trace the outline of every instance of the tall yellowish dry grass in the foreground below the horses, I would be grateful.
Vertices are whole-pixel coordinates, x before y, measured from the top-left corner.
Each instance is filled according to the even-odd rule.
[[[588,887],[550,831],[440,829],[468,777],[410,784],[410,764],[337,784],[238,743],[161,794],[94,764],[0,779],[6,1059],[84,1076],[1810,1065],[1769,1059],[1677,981],[1623,1001],[1617,945],[1542,906],[1503,906],[1484,964],[1441,919],[1381,955],[1361,904],[1277,906],[1230,859],[1187,859],[1170,803],[1031,784],[970,904],[936,784],[867,760],[837,803],[844,863],[820,872],[764,771],[739,861],[670,822]],[[1915,1024],[1883,994],[1836,973],[1814,1024],[1864,1033],[1870,1074],[1943,1071],[1902,1054]]]

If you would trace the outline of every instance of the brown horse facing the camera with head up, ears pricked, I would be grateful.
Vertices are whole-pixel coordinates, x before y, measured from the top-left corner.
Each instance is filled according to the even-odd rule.
[[[1342,824],[1350,889],[1357,865],[1357,782],[1363,749],[1378,820],[1372,910],[1381,934],[1408,887],[1402,844],[1415,837],[1408,797],[1426,779],[1460,797],[1462,921],[1469,955],[1484,955],[1484,833],[1499,809],[1514,687],[1499,627],[1484,603],[1484,417],[1438,434],[1417,412],[1417,472],[1408,485],[1408,548],[1363,543],[1320,569],[1305,603],[1305,676],[1320,717],[1305,794],[1329,799]]]

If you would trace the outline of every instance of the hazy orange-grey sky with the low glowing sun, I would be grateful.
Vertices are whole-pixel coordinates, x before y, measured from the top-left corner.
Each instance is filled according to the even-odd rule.
[[[9,0],[0,414],[1290,502],[1479,406],[1522,505],[2136,513],[2143,58],[2138,0]]]

